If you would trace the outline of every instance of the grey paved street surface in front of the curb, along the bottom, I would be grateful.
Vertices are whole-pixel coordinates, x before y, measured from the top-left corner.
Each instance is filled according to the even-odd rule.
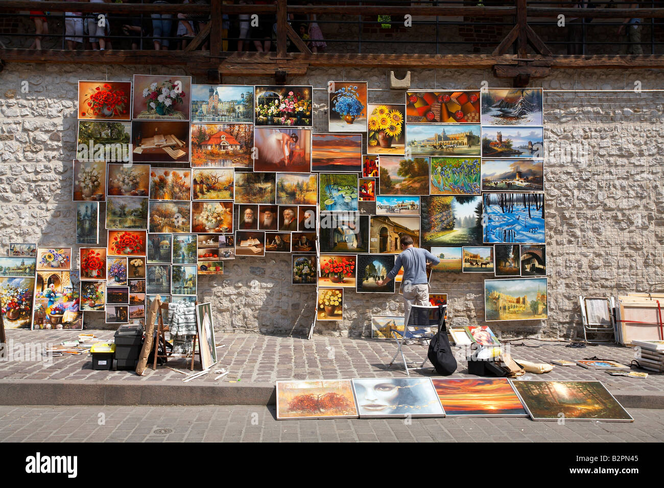
[[[633,423],[528,418],[276,420],[266,406],[0,406],[5,442],[663,442],[661,410]],[[103,415],[102,415],[103,414]],[[104,425],[100,425],[100,419]]]

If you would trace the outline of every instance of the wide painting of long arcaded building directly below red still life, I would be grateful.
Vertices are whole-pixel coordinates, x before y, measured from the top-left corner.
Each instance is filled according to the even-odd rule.
[[[413,156],[481,155],[479,124],[408,124],[406,131],[406,147]]]

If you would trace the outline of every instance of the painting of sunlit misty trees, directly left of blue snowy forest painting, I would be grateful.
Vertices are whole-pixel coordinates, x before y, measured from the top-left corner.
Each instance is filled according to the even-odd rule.
[[[422,197],[422,246],[482,244],[482,197]]]

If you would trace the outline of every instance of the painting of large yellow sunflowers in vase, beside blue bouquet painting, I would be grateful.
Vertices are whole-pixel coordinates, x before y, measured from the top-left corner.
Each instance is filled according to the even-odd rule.
[[[403,104],[369,104],[367,154],[403,154],[406,141]]]

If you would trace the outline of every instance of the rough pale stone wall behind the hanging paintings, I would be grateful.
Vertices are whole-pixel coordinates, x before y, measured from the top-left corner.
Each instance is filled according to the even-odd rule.
[[[0,74],[0,252],[7,252],[10,241],[72,244],[77,82],[131,80],[134,73],[183,71],[5,66]],[[473,88],[483,80],[489,86],[509,86],[509,80],[495,79],[489,70],[441,68],[411,74],[412,88]],[[372,90],[381,89],[369,92],[370,102],[403,102],[403,92],[387,90],[388,75],[388,70],[320,68],[289,81],[317,88],[315,129],[327,131],[328,80],[367,80]],[[224,82],[274,80],[226,78]],[[547,90],[580,90],[544,96],[549,319],[492,323],[498,333],[570,337],[580,325],[580,293],[663,291],[664,94],[592,91],[633,90],[639,85],[642,90],[664,89],[661,71],[558,70],[535,80],[533,86]],[[28,92],[21,91],[25,87]],[[218,331],[305,335],[315,293],[306,285],[291,285],[290,266],[290,255],[226,262],[223,277],[201,277],[199,301],[213,303]],[[434,284],[434,291],[448,293],[453,325],[483,323],[484,278],[491,277],[464,274]],[[344,296],[345,319],[319,323],[318,333],[370,335],[372,314],[402,313],[398,295],[348,291]],[[102,314],[88,313],[85,326],[104,327],[103,317],[94,315]]]

